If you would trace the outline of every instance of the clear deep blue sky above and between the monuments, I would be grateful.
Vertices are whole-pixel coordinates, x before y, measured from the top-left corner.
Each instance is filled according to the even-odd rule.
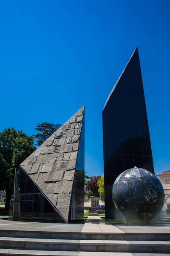
[[[85,171],[102,175],[102,109],[138,46],[155,172],[170,169],[169,0],[8,0],[0,24],[0,131],[85,104]]]

